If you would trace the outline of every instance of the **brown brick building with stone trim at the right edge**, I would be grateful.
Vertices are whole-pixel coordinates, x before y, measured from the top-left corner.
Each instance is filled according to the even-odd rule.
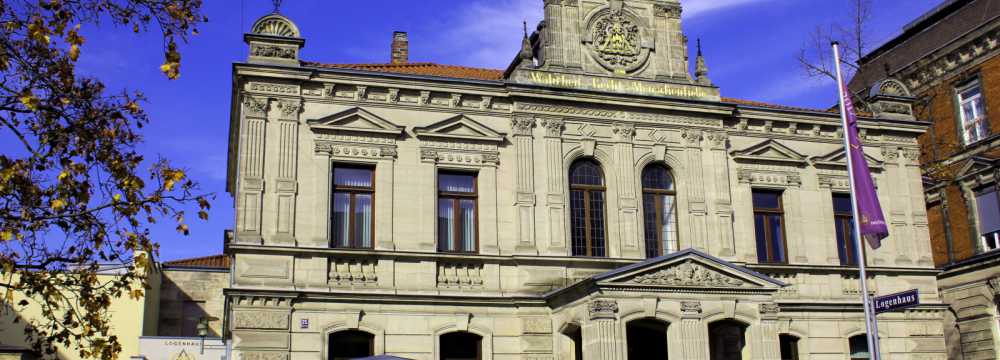
[[[929,125],[920,162],[952,359],[1000,356],[1000,2],[950,0],[861,60],[851,89],[901,81]],[[874,112],[884,111],[877,107]]]

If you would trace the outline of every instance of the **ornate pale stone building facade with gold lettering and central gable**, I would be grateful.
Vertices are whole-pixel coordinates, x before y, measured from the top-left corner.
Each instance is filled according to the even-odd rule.
[[[538,3],[506,71],[303,61],[291,20],[254,24],[233,66],[234,356],[866,356],[839,116],[723,98],[700,54],[691,76],[677,1]],[[944,359],[925,125],[861,126],[892,224],[870,288],[923,303],[880,316],[882,349]]]

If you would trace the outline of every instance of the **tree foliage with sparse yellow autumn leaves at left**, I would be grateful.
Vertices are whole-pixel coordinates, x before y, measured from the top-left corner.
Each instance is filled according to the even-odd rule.
[[[184,209],[208,216],[183,170],[138,152],[143,95],[77,73],[81,29],[159,31],[160,71],[175,79],[177,43],[206,20],[201,0],[0,0],[0,305],[42,310],[26,319],[36,351],[116,358],[107,309],[142,297],[158,249],[150,227],[186,234]],[[106,264],[121,269],[99,275]]]

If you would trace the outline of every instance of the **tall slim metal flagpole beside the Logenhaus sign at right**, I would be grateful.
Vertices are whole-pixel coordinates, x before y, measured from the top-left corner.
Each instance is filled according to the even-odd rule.
[[[854,193],[854,161],[851,159],[851,144],[848,136],[850,132],[847,129],[847,108],[844,105],[844,97],[850,96],[850,93],[845,93],[844,79],[840,72],[840,44],[833,42],[832,45],[834,67],[837,69],[837,93],[840,98],[840,120],[844,127],[844,157],[847,159],[847,178],[850,181],[851,187],[851,212],[854,216],[852,221],[854,225],[854,234],[851,237],[854,238],[854,246],[857,248],[857,251],[855,251],[855,257],[858,262],[858,270],[861,273],[858,277],[858,281],[861,283],[861,301],[865,308],[865,331],[867,332],[868,338],[868,353],[871,360],[879,360],[882,356],[879,352],[878,323],[875,319],[875,311],[872,308],[871,298],[868,296],[868,274],[865,270],[865,258],[862,255],[864,254],[865,244],[861,242],[861,225],[859,222],[861,217],[858,214],[858,197]]]

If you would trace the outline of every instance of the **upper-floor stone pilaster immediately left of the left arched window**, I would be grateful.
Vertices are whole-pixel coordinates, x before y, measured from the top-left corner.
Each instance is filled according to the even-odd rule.
[[[566,204],[564,188],[566,174],[562,161],[562,130],[563,120],[558,118],[542,119],[545,127],[545,169],[546,196],[545,206],[548,211],[549,249],[554,253],[566,252]]]

